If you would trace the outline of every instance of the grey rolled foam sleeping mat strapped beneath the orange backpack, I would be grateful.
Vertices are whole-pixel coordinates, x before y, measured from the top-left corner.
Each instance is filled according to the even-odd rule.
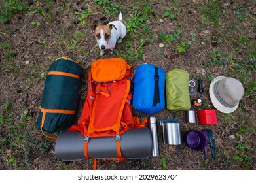
[[[120,135],[122,155],[127,159],[147,159],[152,154],[153,141],[148,128],[128,129]],[[88,142],[90,158],[117,158],[115,137],[91,138]],[[55,156],[62,161],[77,161],[84,157],[84,136],[79,131],[64,131],[58,135]]]

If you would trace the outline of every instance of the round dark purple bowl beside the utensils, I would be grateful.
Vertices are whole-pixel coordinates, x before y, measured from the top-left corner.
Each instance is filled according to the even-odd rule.
[[[206,137],[201,131],[189,130],[184,135],[185,144],[192,150],[200,151],[206,147]]]

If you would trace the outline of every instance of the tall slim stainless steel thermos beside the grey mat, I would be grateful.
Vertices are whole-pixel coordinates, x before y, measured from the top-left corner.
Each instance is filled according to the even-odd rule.
[[[149,116],[149,129],[151,131],[151,135],[152,135],[152,139],[153,139],[152,156],[159,156],[156,117],[155,116]]]

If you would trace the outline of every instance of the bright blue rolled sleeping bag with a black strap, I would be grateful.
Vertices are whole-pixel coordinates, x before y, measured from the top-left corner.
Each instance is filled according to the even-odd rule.
[[[149,63],[139,65],[134,73],[134,108],[145,114],[155,114],[163,110],[164,87],[164,69]]]

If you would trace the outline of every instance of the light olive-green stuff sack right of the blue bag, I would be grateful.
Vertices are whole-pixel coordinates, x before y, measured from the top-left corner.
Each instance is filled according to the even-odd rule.
[[[166,74],[166,108],[169,110],[189,110],[189,73],[174,69]]]

